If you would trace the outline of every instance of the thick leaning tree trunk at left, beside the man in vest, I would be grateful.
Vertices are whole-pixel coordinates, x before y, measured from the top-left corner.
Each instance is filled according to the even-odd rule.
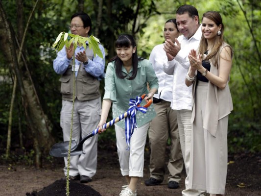
[[[30,73],[28,70],[22,73],[24,69],[19,67],[16,51],[19,47],[15,44],[15,33],[7,20],[5,10],[0,1],[0,36],[3,35],[5,37],[0,37],[1,49],[5,56],[5,62],[9,65],[10,70],[15,71],[29,129],[25,137],[35,139],[36,142],[34,142],[34,145],[39,145],[35,147],[36,151],[39,149],[43,154],[47,154],[51,145],[54,143],[54,139],[50,134],[52,125],[42,110],[34,84],[30,78]],[[40,167],[41,156],[35,163],[36,167]]]

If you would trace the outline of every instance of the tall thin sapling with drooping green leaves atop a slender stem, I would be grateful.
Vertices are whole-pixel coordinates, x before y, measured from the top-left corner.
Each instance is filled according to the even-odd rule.
[[[102,52],[99,49],[99,40],[91,35],[90,37],[81,37],[79,35],[74,35],[71,33],[61,32],[58,37],[56,38],[53,48],[55,48],[54,51],[60,51],[64,48],[70,48],[71,44],[73,44],[73,95],[72,95],[72,109],[71,109],[71,133],[70,133],[70,141],[69,141],[69,149],[68,149],[68,164],[67,164],[67,175],[66,175],[66,196],[70,195],[70,189],[69,189],[69,171],[70,171],[70,159],[71,159],[71,136],[72,136],[72,120],[73,120],[73,110],[74,110],[74,100],[75,100],[75,49],[77,46],[83,46],[84,49],[87,48],[86,42],[88,42],[88,47],[90,49],[93,49],[94,56],[98,55],[99,57],[103,58]]]

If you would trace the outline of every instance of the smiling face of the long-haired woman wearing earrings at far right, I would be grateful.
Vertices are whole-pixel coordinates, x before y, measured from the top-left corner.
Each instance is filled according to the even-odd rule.
[[[203,17],[202,19],[202,25],[201,25],[201,31],[203,36],[211,41],[217,36],[217,31],[221,29],[222,25],[216,25],[214,21]]]

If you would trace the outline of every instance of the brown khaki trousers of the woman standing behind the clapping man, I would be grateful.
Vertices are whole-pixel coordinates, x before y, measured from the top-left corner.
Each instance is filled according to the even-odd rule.
[[[163,181],[165,174],[165,152],[170,138],[170,154],[167,164],[168,181],[180,183],[183,169],[183,156],[179,141],[179,130],[176,111],[170,108],[170,102],[162,100],[154,104],[157,116],[151,121],[149,128],[150,177]]]

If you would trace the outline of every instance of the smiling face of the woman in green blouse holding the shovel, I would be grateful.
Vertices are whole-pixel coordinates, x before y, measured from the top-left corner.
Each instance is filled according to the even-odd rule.
[[[135,53],[136,47],[117,47],[116,52],[123,65],[132,65],[132,55]]]

